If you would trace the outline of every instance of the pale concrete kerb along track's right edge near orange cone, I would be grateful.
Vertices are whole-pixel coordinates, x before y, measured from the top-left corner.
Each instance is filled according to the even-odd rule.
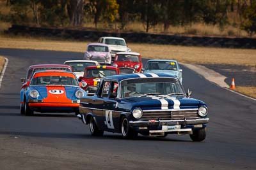
[[[220,73],[217,73],[216,71],[213,71],[212,69],[208,69],[207,67],[198,65],[198,64],[187,64],[187,63],[182,63],[182,62],[180,62],[180,64],[188,67],[188,69],[195,71],[197,74],[200,74],[201,76],[203,76],[206,80],[211,81],[212,83],[222,87],[223,89],[226,89],[226,90],[233,92],[235,94],[238,94],[240,96],[246,97],[248,99],[252,99],[253,101],[256,101],[256,99],[254,99],[252,97],[245,96],[244,94],[241,94],[234,90],[230,90],[229,85],[227,83],[225,83],[225,81],[224,81],[227,77],[221,75]]]

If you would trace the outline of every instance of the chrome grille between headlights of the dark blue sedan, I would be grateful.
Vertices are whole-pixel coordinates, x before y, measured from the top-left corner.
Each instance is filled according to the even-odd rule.
[[[182,120],[200,118],[197,110],[143,111],[141,120]]]

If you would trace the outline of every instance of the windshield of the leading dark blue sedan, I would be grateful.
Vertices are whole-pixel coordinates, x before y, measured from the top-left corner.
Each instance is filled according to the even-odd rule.
[[[184,95],[184,89],[175,78],[135,78],[121,81],[121,97],[148,95]]]

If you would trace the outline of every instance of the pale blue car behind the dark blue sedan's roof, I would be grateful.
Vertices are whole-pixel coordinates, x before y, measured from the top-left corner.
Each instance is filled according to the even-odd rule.
[[[182,69],[177,60],[148,60],[144,73],[166,73],[176,76],[182,83]]]

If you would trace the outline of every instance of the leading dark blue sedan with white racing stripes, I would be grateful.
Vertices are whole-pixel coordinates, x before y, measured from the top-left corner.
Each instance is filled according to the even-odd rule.
[[[185,94],[170,74],[120,74],[103,78],[95,96],[81,97],[80,114],[92,136],[104,131],[124,138],[189,134],[193,141],[206,136],[208,109]]]

